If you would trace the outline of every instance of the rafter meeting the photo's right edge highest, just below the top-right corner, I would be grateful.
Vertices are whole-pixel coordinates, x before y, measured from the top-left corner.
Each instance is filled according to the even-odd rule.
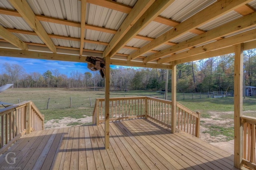
[[[217,39],[221,40],[222,37],[224,36],[227,36],[229,34],[233,34],[235,32],[242,31],[254,26],[256,26],[256,12],[249,14],[247,16],[244,16],[242,18],[238,18],[232,22],[229,22],[227,24],[224,24],[212,30],[209,30],[208,32],[205,32],[199,36],[196,36],[184,42],[180,42],[177,45],[166,48],[162,51],[159,51],[158,53],[152,54],[146,57],[143,62],[153,61],[160,57],[171,55],[178,51],[182,51],[184,49],[188,49],[202,43],[210,42],[212,40],[217,40]]]

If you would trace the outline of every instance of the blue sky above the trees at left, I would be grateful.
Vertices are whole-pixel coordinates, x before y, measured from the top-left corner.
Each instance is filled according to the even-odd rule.
[[[18,64],[21,65],[26,73],[39,72],[43,74],[47,70],[58,69],[61,74],[70,76],[72,71],[79,71],[81,73],[91,72],[87,68],[87,63],[78,63],[70,61],[54,61],[54,60],[45,60],[45,59],[28,59],[28,58],[18,58],[18,57],[2,57],[0,56],[0,73],[3,73],[2,65],[4,63]],[[112,68],[118,68],[114,65],[111,65]]]

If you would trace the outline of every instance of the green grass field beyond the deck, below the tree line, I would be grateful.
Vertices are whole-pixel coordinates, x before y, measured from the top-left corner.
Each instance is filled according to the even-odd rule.
[[[171,93],[168,93],[170,99]],[[181,94],[177,94],[181,95]],[[91,106],[90,106],[90,99]],[[163,95],[155,91],[111,91],[110,97],[136,97],[152,96],[163,99]],[[70,107],[71,97],[71,107]],[[47,101],[50,98],[48,109]],[[84,89],[51,89],[51,88],[24,88],[8,89],[0,93],[0,101],[18,103],[31,100],[45,115],[45,120],[61,119],[62,117],[82,118],[84,115],[92,116],[96,98],[104,98],[104,89],[100,91],[85,91]],[[202,117],[209,117],[209,111],[227,112],[234,110],[234,97],[203,98],[203,99],[178,99],[178,102],[192,111],[200,111]],[[246,97],[244,100],[244,111],[255,111],[245,113],[256,116],[256,98]],[[226,116],[226,117],[225,117]],[[233,115],[225,115],[223,118],[232,119]]]

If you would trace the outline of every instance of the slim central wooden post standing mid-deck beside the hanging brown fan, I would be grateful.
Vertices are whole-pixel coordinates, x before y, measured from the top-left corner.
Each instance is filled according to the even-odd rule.
[[[109,149],[110,57],[106,57],[105,67],[105,149]]]

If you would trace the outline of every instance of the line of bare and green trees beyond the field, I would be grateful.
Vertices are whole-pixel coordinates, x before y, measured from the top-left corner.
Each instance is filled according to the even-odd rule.
[[[168,77],[166,72],[169,71]],[[111,90],[161,90],[166,80],[171,89],[171,70],[118,67],[110,69]],[[256,86],[256,49],[244,51],[244,82]],[[4,63],[0,74],[0,86],[13,83],[14,88],[54,87],[90,88],[104,87],[104,79],[98,71],[81,73],[72,71],[70,76],[58,69],[26,73],[21,65]],[[177,65],[177,91],[207,92],[234,89],[234,54],[221,55]]]

